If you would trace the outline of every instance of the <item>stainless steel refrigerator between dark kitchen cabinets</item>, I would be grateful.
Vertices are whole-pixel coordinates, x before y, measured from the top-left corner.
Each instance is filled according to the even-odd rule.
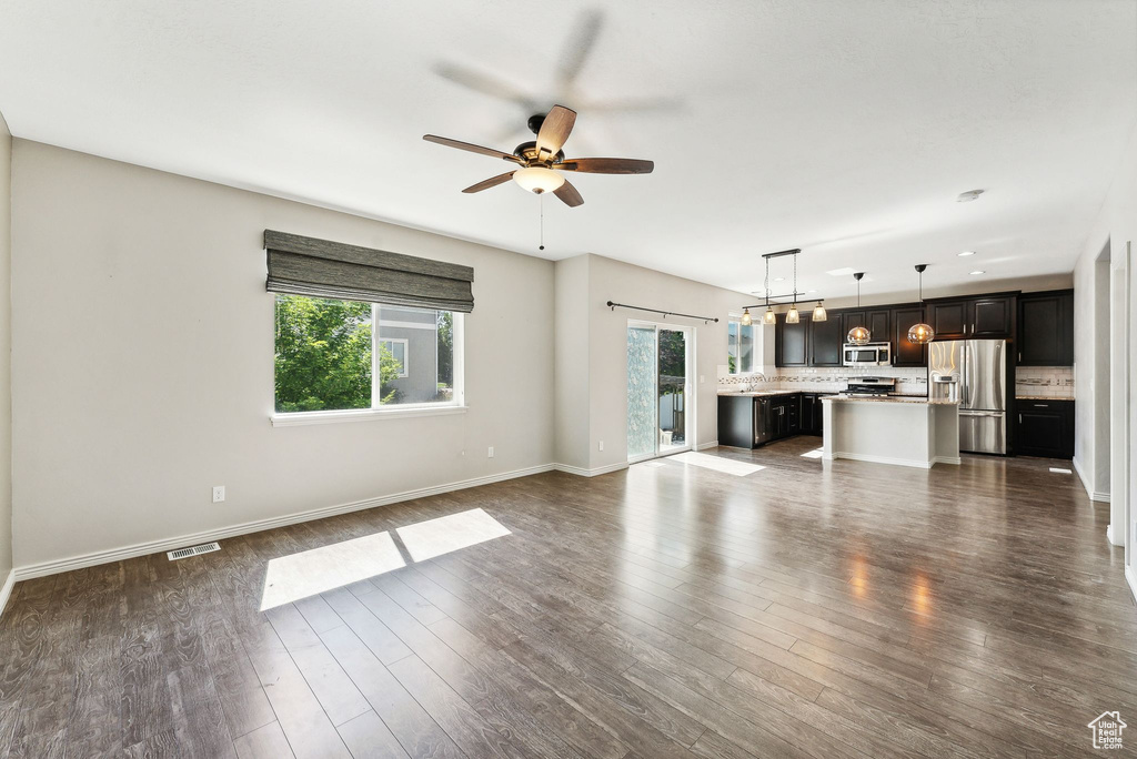
[[[928,345],[931,398],[960,401],[960,450],[1006,453],[1006,342],[944,340]]]

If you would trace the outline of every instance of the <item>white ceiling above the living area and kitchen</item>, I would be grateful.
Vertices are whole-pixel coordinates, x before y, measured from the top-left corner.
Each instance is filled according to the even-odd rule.
[[[929,286],[1069,272],[1137,118],[1137,0],[2,8],[16,136],[538,255],[537,198],[459,192],[508,166],[421,137],[508,152],[559,102],[570,157],[656,170],[573,176],[586,202],[546,201],[542,255],[741,291],[786,248],[822,297],[855,292],[833,269],[866,294],[911,294],[922,261]],[[475,75],[531,103],[456,81]]]

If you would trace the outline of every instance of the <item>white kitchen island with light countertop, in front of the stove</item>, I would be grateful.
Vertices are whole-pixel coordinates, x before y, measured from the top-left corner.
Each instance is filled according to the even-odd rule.
[[[824,459],[930,469],[960,462],[960,404],[923,397],[828,395]]]

